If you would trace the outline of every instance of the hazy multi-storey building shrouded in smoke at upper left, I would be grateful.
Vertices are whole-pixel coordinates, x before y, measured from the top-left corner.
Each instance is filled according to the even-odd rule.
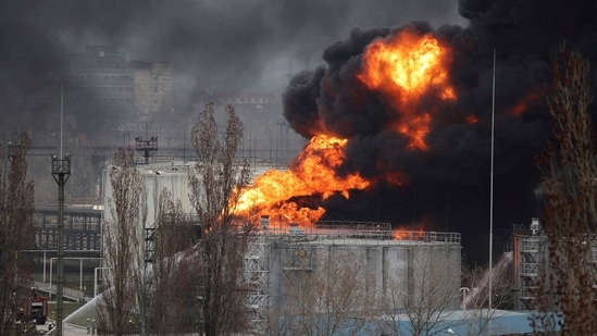
[[[65,108],[92,108],[98,117],[122,113],[147,122],[172,108],[172,65],[127,61],[114,46],[87,46],[67,55],[70,83]],[[85,95],[87,92],[88,95]]]

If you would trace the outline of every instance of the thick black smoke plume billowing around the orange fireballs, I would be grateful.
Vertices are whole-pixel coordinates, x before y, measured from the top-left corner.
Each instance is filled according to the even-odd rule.
[[[537,213],[537,170],[533,157],[549,137],[542,88],[550,80],[551,61],[565,40],[593,63],[597,55],[597,3],[575,1],[461,0],[467,27],[424,22],[387,28],[355,29],[323,51],[325,66],[291,78],[284,114],[306,137],[326,133],[349,138],[343,169],[374,177],[399,171],[409,177],[401,188],[378,186],[331,199],[328,219],[386,220],[397,225],[423,219],[433,228],[472,233],[489,222],[493,54],[497,54],[495,102],[495,221],[508,231]],[[365,47],[403,29],[433,32],[453,50],[450,80],[456,102],[425,97],[441,110],[426,137],[428,151],[407,150],[407,141],[383,125],[395,113],[383,92],[363,87],[356,74]],[[594,76],[595,77],[595,76]],[[519,115],[517,107],[527,110]],[[478,122],[462,122],[464,114]],[[384,162],[380,165],[378,162]],[[338,172],[343,174],[344,172]],[[470,236],[469,236],[470,237]]]

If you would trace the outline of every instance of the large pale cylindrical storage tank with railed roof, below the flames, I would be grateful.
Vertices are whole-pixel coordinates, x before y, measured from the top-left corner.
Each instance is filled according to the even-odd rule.
[[[460,307],[460,234],[391,232],[387,223],[266,226],[261,248],[268,246],[262,272],[269,276],[262,287],[270,311],[288,309],[301,297],[321,297],[329,288],[359,291],[356,297],[370,309]],[[343,277],[351,281],[343,283]]]

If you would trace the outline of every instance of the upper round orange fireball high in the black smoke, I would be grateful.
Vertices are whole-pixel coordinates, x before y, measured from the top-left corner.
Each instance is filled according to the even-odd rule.
[[[425,136],[431,130],[431,114],[436,112],[420,111],[421,98],[433,94],[441,100],[456,99],[449,85],[450,60],[448,47],[432,34],[412,29],[374,40],[363,53],[358,77],[370,89],[386,94],[394,110],[402,113],[393,126],[409,139],[410,149],[427,149]]]

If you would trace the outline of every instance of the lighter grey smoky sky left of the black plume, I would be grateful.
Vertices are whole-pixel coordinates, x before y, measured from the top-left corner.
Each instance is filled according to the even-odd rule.
[[[40,116],[58,109],[58,102],[23,108],[15,101],[58,96],[65,80],[60,61],[65,53],[84,52],[86,46],[116,46],[129,60],[171,62],[176,103],[186,108],[204,91],[281,92],[290,73],[320,63],[320,50],[351,27],[412,17],[458,20],[456,2],[444,0],[366,4],[358,0],[4,0],[2,4],[3,125],[26,124],[28,129],[43,127]]]

